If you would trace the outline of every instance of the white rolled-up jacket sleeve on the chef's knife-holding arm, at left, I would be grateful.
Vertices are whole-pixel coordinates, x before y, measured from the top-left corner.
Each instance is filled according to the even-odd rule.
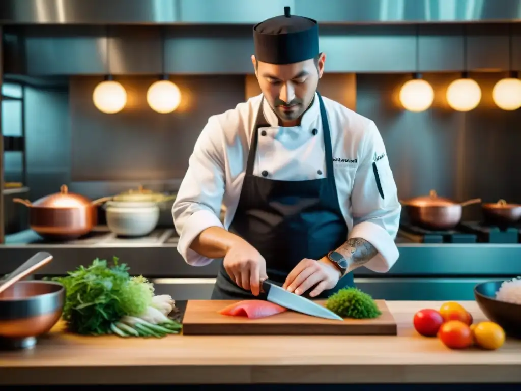
[[[192,241],[206,228],[223,227],[219,219],[225,191],[221,140],[220,124],[215,117],[210,117],[195,142],[187,173],[172,205],[173,223],[179,235],[177,250],[193,266],[205,266],[212,259],[191,250]]]

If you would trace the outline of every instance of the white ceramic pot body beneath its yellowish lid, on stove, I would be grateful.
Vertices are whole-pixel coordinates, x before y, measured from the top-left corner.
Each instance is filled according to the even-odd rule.
[[[115,202],[105,204],[108,229],[118,236],[145,236],[157,226],[159,206],[155,202]]]

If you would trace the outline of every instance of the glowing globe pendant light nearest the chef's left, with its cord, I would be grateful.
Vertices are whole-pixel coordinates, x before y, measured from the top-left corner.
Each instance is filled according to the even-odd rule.
[[[166,55],[165,55],[165,27],[162,30],[163,43],[163,76],[160,80],[152,83],[146,92],[148,105],[157,113],[167,114],[175,111],[181,103],[181,91],[176,84],[168,80],[166,75]]]

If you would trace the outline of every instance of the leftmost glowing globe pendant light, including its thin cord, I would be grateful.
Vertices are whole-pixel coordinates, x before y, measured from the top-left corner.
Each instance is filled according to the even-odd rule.
[[[110,75],[108,26],[106,31],[107,71],[109,75],[105,77],[104,81],[96,85],[92,93],[92,101],[99,111],[106,114],[115,114],[120,112],[127,104],[127,91],[120,83],[114,81],[114,78]]]

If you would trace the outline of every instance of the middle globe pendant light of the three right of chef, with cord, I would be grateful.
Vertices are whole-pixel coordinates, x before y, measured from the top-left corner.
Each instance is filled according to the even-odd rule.
[[[463,34],[463,63],[467,69],[467,33],[466,26]],[[449,84],[446,93],[447,102],[454,110],[458,112],[468,112],[479,104],[481,101],[481,88],[474,79],[468,77],[465,71],[461,79],[454,80]]]

